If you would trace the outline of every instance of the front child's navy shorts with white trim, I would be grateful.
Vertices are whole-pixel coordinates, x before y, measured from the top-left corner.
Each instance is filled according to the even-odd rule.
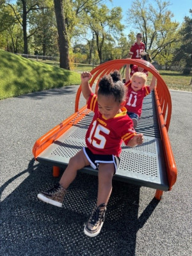
[[[90,162],[90,166],[92,166],[93,169],[98,169],[99,163],[113,163],[116,173],[116,170],[118,169],[118,166],[120,164],[120,157],[114,155],[96,155],[93,154],[92,151],[86,147],[83,147],[83,152],[88,161]]]

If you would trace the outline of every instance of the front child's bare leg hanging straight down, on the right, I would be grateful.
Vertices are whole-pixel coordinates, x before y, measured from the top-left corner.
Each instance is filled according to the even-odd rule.
[[[112,191],[112,179],[114,172],[115,166],[113,163],[99,163],[97,206],[103,203],[106,205],[108,204]]]

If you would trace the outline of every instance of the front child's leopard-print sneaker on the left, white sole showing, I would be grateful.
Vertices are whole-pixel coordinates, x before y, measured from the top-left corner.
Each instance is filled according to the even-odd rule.
[[[63,198],[66,194],[67,190],[63,188],[60,184],[56,184],[54,188],[39,193],[37,197],[45,203],[62,207]]]

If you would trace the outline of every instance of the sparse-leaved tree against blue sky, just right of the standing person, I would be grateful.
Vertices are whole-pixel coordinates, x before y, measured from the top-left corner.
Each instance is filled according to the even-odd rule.
[[[156,58],[166,47],[179,42],[177,38],[178,22],[172,22],[173,13],[167,10],[169,2],[154,0],[153,5],[147,0],[134,1],[128,12],[129,24],[134,24],[137,31],[143,33],[146,51]],[[154,7],[155,6],[155,7]]]

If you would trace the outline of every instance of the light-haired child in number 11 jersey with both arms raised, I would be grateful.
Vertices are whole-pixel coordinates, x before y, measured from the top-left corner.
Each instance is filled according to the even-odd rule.
[[[125,70],[125,86],[128,90],[125,108],[127,108],[127,115],[132,119],[134,128],[136,128],[142,112],[143,99],[156,86],[156,77],[152,76],[150,86],[147,86],[147,75],[144,72],[135,72],[130,78],[129,66],[126,65]]]

